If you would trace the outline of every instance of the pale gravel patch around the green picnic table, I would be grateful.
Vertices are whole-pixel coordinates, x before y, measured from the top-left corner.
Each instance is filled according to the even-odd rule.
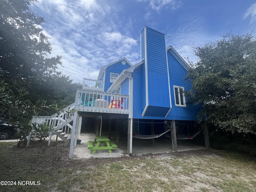
[[[82,140],[81,144],[76,145],[73,151],[73,159],[88,159],[88,158],[116,158],[128,156],[120,148],[112,150],[112,153],[109,153],[108,150],[97,150],[95,154],[92,154],[92,151],[88,150],[87,142],[93,141],[95,139],[94,133],[81,133],[79,139]]]

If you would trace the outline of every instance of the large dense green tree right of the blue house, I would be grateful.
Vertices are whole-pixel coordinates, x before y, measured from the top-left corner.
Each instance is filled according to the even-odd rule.
[[[195,47],[198,62],[188,73],[189,102],[202,104],[200,119],[217,128],[256,134],[256,39],[226,34]]]

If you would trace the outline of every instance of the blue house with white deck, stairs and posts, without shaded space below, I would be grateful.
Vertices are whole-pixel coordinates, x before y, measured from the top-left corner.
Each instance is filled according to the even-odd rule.
[[[98,120],[97,135],[102,134],[103,120],[109,120],[109,137],[112,120],[124,120],[126,126],[122,126],[122,132],[127,135],[127,153],[130,156],[135,134],[137,138],[143,135],[154,138],[151,136],[166,132],[166,121],[171,123],[172,149],[177,151],[175,122],[197,120],[200,108],[188,106],[184,96],[184,91],[191,88],[191,83],[185,80],[190,68],[188,64],[172,46],[166,48],[166,36],[161,32],[144,27],[140,37],[140,62],[132,65],[122,58],[103,66],[97,80],[85,78],[83,88],[77,90],[74,104],[66,108],[75,109],[74,112],[69,116],[63,112],[47,119],[54,127],[53,134],[63,140],[64,128],[72,130],[70,158],[83,118]],[[34,117],[32,122],[46,121],[46,118],[43,121],[39,118]],[[151,124],[143,126],[139,122]],[[162,126],[152,126],[156,122]],[[204,128],[205,138],[208,137],[206,130]],[[116,130],[116,143],[119,142],[119,131]]]

